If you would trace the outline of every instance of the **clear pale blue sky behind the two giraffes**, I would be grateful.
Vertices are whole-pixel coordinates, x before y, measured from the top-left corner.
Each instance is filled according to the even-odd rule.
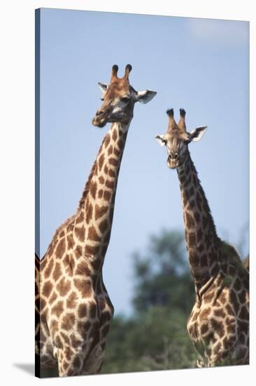
[[[129,312],[131,253],[150,234],[183,231],[176,171],[155,135],[167,108],[187,112],[187,130],[207,125],[190,145],[220,237],[238,246],[249,222],[249,23],[151,15],[41,10],[41,251],[78,207],[110,125],[92,126],[98,81],[113,64],[133,69],[136,90],[157,91],[137,104],[118,180],[104,281],[115,312]],[[243,256],[244,257],[244,256]]]

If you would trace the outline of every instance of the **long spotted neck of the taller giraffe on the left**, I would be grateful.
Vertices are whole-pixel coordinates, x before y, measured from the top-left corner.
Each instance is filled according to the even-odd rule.
[[[96,270],[101,269],[104,263],[111,237],[115,192],[129,124],[112,124],[101,144],[79,203],[77,220],[81,224],[78,239],[83,254],[91,260]]]

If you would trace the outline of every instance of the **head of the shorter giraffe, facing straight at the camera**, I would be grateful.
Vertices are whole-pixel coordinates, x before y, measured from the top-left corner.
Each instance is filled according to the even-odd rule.
[[[207,126],[195,128],[191,133],[187,132],[185,124],[185,110],[180,109],[180,120],[178,124],[173,117],[173,109],[167,110],[169,117],[168,129],[165,134],[157,135],[155,139],[161,146],[166,145],[168,152],[167,165],[171,169],[183,166],[187,158],[188,144],[192,141],[197,142],[201,140]]]

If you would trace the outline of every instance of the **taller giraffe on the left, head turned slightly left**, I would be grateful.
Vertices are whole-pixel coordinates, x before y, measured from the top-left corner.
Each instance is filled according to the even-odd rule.
[[[92,166],[76,214],[57,229],[45,256],[36,258],[36,353],[42,366],[58,364],[59,375],[99,373],[113,305],[102,266],[111,237],[115,192],[135,102],[155,91],[129,84],[131,65],[109,85],[99,84],[103,103],[92,124],[112,126]]]

